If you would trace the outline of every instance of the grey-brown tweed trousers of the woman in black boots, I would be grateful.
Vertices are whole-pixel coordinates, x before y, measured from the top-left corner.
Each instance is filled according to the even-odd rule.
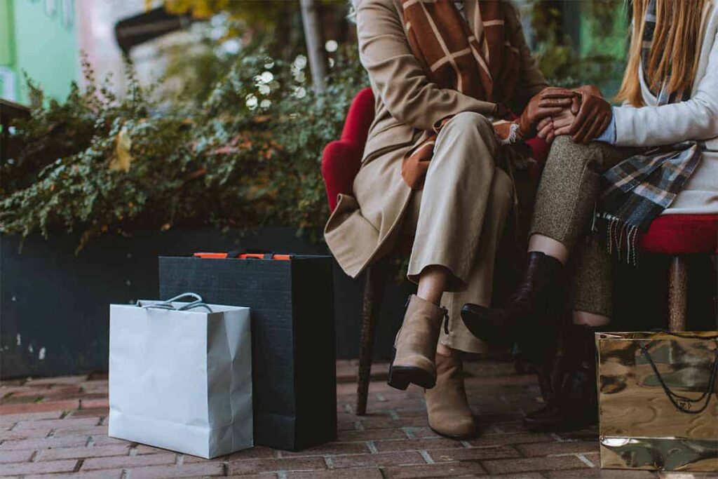
[[[569,136],[554,139],[541,175],[529,236],[559,241],[572,253],[569,306],[610,317],[611,260],[592,233],[601,174],[633,154],[600,141],[577,144]]]

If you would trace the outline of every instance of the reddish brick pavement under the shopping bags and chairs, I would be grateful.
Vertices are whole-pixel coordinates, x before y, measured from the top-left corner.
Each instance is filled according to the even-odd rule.
[[[597,468],[596,432],[536,434],[521,428],[538,406],[533,376],[510,363],[467,365],[467,391],[482,433],[448,440],[426,424],[421,390],[389,388],[375,366],[369,414],[355,416],[356,364],[337,363],[337,441],[302,452],[266,447],[203,460],[107,436],[107,378],[6,381],[0,386],[0,477],[140,479],[230,476],[299,478],[658,478]],[[687,479],[694,475],[663,475]],[[695,477],[706,478],[708,475]]]

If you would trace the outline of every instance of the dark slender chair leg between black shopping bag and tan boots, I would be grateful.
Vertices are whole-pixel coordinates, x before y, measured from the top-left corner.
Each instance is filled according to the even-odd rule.
[[[374,330],[379,317],[381,301],[384,297],[386,279],[386,261],[369,266],[366,270],[364,285],[364,305],[361,320],[361,340],[359,344],[359,371],[357,376],[356,414],[366,414],[366,401],[371,381],[371,361],[374,353]]]

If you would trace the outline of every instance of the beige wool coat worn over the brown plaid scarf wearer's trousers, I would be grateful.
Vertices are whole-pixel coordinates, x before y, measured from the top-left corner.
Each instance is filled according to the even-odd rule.
[[[327,245],[352,277],[396,244],[412,194],[401,177],[406,152],[444,118],[464,111],[490,118],[495,110],[495,103],[429,81],[411,53],[400,11],[400,0],[359,0],[356,5],[360,60],[376,98],[376,116],[354,182],[355,195],[340,195],[325,227]],[[476,0],[465,0],[465,12],[481,38]],[[507,28],[521,61],[519,94],[510,106],[521,112],[531,96],[546,88],[546,80],[531,57],[518,16]]]

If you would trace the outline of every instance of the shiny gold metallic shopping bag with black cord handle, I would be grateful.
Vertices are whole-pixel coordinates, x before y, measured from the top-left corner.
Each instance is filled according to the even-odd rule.
[[[718,472],[718,332],[600,332],[601,467]]]

